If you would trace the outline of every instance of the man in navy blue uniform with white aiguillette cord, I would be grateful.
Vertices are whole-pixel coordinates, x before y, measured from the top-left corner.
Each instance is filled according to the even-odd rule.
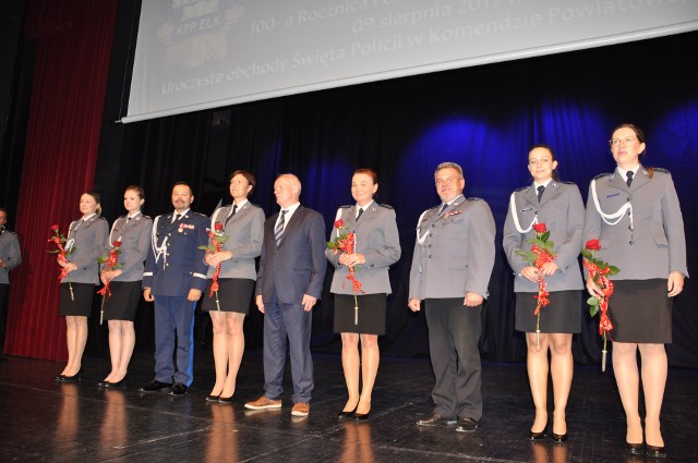
[[[193,381],[194,309],[206,288],[205,251],[208,218],[192,212],[194,194],[189,184],[172,188],[174,211],[158,216],[143,273],[143,297],[155,301],[155,379],[139,389],[155,392],[170,389],[182,395]],[[177,368],[172,362],[177,332]]]

